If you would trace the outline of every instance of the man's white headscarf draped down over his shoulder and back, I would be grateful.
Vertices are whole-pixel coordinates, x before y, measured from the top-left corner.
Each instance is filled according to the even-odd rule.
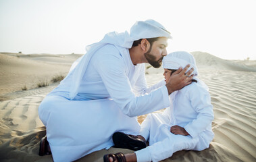
[[[86,71],[88,62],[98,49],[107,44],[130,49],[132,43],[140,38],[156,38],[161,36],[172,38],[170,32],[168,32],[161,24],[155,22],[155,20],[146,20],[136,22],[132,28],[130,28],[130,34],[127,31],[122,33],[109,32],[105,34],[104,38],[98,43],[88,45],[86,47],[86,54],[80,57],[78,61],[75,61],[70,69],[70,72],[74,71],[72,85],[70,86],[70,99],[74,99],[76,94],[78,94],[78,88],[82,76]]]

